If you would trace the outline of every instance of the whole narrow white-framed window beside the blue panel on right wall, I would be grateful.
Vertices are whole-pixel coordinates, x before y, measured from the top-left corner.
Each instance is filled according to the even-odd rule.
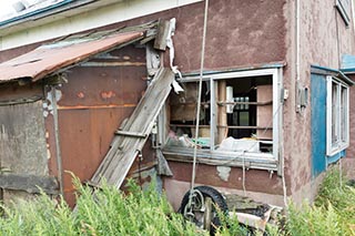
[[[327,155],[348,146],[348,86],[327,76]]]

